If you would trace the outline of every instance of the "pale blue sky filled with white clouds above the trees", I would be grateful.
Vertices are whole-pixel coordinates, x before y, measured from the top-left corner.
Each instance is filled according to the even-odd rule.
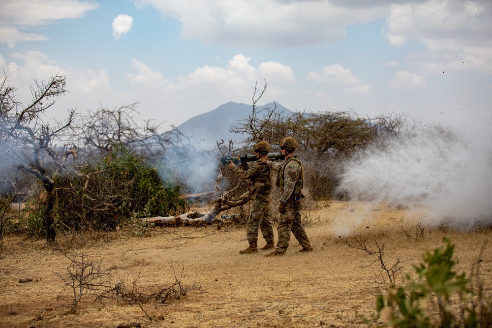
[[[0,0],[0,66],[25,104],[35,79],[66,75],[57,118],[138,102],[179,125],[265,80],[261,104],[490,136],[492,1]]]

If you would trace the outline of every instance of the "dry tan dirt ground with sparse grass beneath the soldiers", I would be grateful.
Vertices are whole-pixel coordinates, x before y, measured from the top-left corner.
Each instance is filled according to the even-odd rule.
[[[318,202],[309,211],[306,228],[314,247],[298,253],[292,238],[283,257],[265,252],[240,255],[246,233],[233,225],[154,227],[146,237],[110,233],[106,240],[88,240],[77,254],[99,256],[101,268],[135,290],[160,290],[176,278],[196,289],[165,303],[126,304],[116,299],[82,298],[70,311],[73,291],[63,290],[60,277],[69,261],[45,241],[6,237],[0,260],[0,327],[381,327],[374,319],[376,296],[388,285],[378,275],[376,254],[349,247],[357,240],[384,260],[403,262],[398,280],[425,250],[442,245],[447,236],[456,245],[457,270],[470,274],[490,229],[461,233],[431,228],[425,213],[384,205]],[[277,238],[277,235],[276,235]],[[276,239],[277,240],[277,239]],[[260,239],[259,246],[264,245]],[[487,247],[487,245],[486,245]],[[492,282],[492,254],[481,257],[480,278]],[[174,268],[174,272],[173,272]],[[383,272],[384,273],[384,272]],[[33,277],[20,283],[19,279]],[[72,294],[70,294],[72,293]]]

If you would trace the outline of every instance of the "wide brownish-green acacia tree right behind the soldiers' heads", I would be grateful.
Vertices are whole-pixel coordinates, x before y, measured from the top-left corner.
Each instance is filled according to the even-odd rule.
[[[294,137],[299,147],[297,153],[305,160],[305,179],[310,193],[315,197],[332,196],[343,170],[343,161],[360,149],[378,140],[398,135],[406,126],[406,115],[380,115],[363,117],[349,111],[306,111],[286,114],[275,108],[256,107],[266,90],[254,87],[252,112],[230,132],[243,136],[241,151],[249,151],[260,140],[272,146],[286,137]],[[231,147],[229,147],[231,149]]]

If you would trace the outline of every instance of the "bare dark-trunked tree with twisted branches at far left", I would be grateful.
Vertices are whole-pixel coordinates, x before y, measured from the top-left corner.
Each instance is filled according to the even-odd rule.
[[[46,110],[66,92],[65,83],[66,77],[60,74],[40,83],[35,81],[35,88],[31,87],[32,100],[26,107],[17,100],[17,88],[10,84],[7,76],[0,83],[0,158],[42,182],[46,190],[47,242],[53,242],[56,237],[53,177],[73,173],[73,167],[68,167],[66,162],[69,156],[74,163],[77,158],[75,146],[57,148],[54,144],[61,142],[61,137],[71,129],[74,111],[69,110],[64,121],[42,120]]]

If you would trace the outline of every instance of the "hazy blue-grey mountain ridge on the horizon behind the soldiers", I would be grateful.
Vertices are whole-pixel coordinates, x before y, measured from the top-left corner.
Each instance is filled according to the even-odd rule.
[[[263,106],[257,106],[258,110],[263,108],[273,109],[277,105],[277,112],[293,113],[290,109],[283,107],[277,102],[271,102]],[[232,123],[240,123],[248,119],[252,105],[228,102],[220,105],[213,111],[197,115],[188,119],[177,128],[192,144],[199,148],[212,149],[216,146],[216,141],[223,139],[227,142],[232,139],[236,142],[242,141],[242,136],[229,132]]]

